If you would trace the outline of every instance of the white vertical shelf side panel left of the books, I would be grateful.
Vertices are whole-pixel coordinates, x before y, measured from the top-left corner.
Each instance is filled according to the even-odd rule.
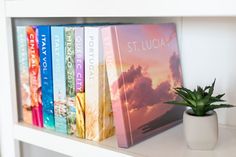
[[[0,120],[1,155],[19,157],[19,142],[14,139],[14,124],[17,122],[14,57],[11,19],[5,16],[5,1],[0,0]]]

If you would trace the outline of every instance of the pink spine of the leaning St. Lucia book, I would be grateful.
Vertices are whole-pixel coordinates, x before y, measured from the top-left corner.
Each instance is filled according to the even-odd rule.
[[[115,95],[114,90],[118,90],[118,73],[120,73],[119,67],[117,65],[120,64],[119,60],[115,58],[119,57],[118,45],[117,45],[117,38],[115,36],[115,27],[105,27],[102,28],[102,41],[103,41],[103,48],[104,54],[106,59],[106,69],[108,75],[108,82],[109,82],[109,89],[111,93],[111,101],[112,101],[112,110],[114,115],[114,123],[116,129],[116,137],[119,147],[128,147],[132,144],[132,139],[130,136],[128,123],[128,117],[126,107],[121,102],[120,94]],[[118,92],[119,93],[119,92]]]

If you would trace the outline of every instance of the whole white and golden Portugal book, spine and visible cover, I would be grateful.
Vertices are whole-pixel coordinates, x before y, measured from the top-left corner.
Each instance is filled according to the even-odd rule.
[[[86,139],[93,141],[114,134],[105,76],[100,27],[85,27],[85,131]]]

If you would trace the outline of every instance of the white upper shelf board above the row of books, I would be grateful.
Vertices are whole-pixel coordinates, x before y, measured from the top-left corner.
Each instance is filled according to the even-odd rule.
[[[8,17],[236,16],[234,0],[6,0]]]

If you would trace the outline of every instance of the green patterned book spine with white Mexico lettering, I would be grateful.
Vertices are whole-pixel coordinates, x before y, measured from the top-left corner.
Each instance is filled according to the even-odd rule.
[[[75,109],[75,29],[65,27],[65,63],[67,96],[67,133],[74,134],[76,129]]]

